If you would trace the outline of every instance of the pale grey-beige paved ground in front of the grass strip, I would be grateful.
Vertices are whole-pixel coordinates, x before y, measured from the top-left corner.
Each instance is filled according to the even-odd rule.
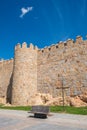
[[[0,130],[87,130],[87,116],[52,113],[38,119],[27,111],[0,109]]]

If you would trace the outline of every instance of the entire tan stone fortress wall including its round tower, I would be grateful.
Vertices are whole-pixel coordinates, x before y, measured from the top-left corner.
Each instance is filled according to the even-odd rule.
[[[14,59],[0,61],[0,102],[28,105],[36,93],[52,97],[87,94],[87,40],[68,39],[38,49],[24,42]]]

